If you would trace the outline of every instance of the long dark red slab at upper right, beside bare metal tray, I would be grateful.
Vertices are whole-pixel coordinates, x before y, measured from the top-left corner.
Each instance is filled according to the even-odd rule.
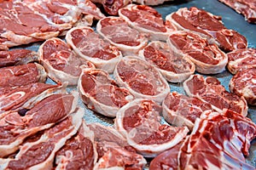
[[[220,16],[210,14],[200,8],[179,8],[177,12],[166,16],[166,20],[177,26],[178,30],[195,31],[201,36],[212,38],[220,48],[229,52],[237,48],[247,48],[247,39],[236,31],[227,29]]]

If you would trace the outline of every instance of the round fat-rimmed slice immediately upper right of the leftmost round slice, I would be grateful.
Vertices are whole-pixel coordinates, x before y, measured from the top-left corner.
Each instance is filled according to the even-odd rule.
[[[104,41],[90,27],[74,27],[67,31],[67,43],[80,57],[89,60],[96,68],[103,69],[109,73],[113,69],[122,54],[118,48]]]

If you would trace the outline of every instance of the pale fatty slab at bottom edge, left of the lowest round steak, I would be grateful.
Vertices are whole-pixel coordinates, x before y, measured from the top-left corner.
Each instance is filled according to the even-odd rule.
[[[95,169],[143,169],[147,161],[136,153],[126,139],[113,127],[99,123],[88,125],[95,133],[99,161]]]

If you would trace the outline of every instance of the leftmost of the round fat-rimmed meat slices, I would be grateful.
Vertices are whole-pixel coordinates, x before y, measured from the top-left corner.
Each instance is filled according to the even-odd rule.
[[[75,54],[60,38],[46,40],[38,53],[48,76],[60,84],[68,82],[68,85],[77,85],[82,69],[95,68],[89,61]]]

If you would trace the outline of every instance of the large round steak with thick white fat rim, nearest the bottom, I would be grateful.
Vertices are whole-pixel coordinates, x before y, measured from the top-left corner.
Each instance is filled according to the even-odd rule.
[[[116,129],[145,157],[154,157],[172,148],[189,132],[188,127],[160,124],[161,109],[153,100],[135,99],[124,105],[116,116]]]

